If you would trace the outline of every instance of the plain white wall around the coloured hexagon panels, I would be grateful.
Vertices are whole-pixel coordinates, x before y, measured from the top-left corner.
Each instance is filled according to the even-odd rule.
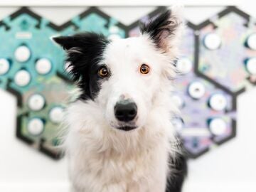
[[[244,2],[246,4],[240,8],[256,17],[256,1]],[[0,7],[0,19],[16,9]],[[193,23],[200,23],[221,9],[223,7],[190,7],[186,8],[185,14]],[[55,8],[53,17],[51,8],[33,7],[33,11],[58,24],[83,10],[80,7]],[[151,7],[102,8],[102,11],[126,24],[151,10]],[[256,191],[254,98],[256,88],[238,98],[238,136],[235,139],[199,159],[189,161],[189,176],[184,192]],[[15,137],[15,112],[15,98],[0,90],[0,191],[68,191],[66,160],[53,161],[18,141]]]

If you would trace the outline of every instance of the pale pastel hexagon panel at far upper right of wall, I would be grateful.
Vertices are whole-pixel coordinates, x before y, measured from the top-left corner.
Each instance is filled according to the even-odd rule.
[[[255,82],[255,74],[247,68],[247,60],[256,56],[247,39],[255,32],[250,16],[233,6],[201,23],[196,36],[197,72],[230,94],[245,91],[247,80]]]

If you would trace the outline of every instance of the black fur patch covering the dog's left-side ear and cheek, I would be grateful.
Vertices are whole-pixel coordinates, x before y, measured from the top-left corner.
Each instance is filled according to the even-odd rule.
[[[75,36],[60,36],[53,38],[67,51],[67,62],[70,63],[70,74],[78,82],[82,90],[80,99],[93,100],[100,91],[102,78],[97,71],[102,66],[98,65],[104,50],[110,43],[104,36],[96,33],[80,33]]]

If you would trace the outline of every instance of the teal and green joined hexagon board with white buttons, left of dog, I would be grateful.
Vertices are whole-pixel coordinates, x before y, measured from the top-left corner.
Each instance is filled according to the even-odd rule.
[[[68,90],[74,87],[65,71],[65,53],[50,38],[80,31],[110,38],[126,36],[122,24],[95,8],[61,26],[27,8],[0,23],[1,39],[6,40],[0,45],[0,87],[18,100],[16,136],[54,159],[62,154],[55,146],[60,144],[60,119]]]

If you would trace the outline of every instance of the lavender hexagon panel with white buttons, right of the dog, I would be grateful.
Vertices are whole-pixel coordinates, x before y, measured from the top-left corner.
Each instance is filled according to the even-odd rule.
[[[176,63],[179,72],[174,85],[174,102],[181,117],[173,122],[188,155],[196,158],[216,144],[235,136],[235,98],[196,73],[196,26],[187,23],[181,58]]]

